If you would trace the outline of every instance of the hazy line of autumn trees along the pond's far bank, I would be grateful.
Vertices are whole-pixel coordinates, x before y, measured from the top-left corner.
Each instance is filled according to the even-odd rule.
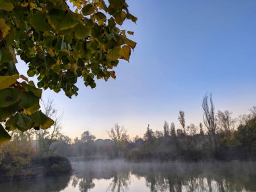
[[[115,124],[110,139],[96,140],[89,131],[81,138],[55,142],[57,154],[65,156],[126,158],[133,161],[207,161],[255,160],[256,107],[249,115],[232,117],[232,112],[215,112],[212,95],[202,102],[203,124],[186,124],[185,112],[179,111],[181,128],[164,122],[163,130],[146,128],[143,137],[129,138],[127,130]]]

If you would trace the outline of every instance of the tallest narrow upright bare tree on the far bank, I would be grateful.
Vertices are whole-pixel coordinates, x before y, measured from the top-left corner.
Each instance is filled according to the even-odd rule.
[[[214,102],[212,101],[212,93],[210,93],[210,105],[208,103],[208,95],[206,93],[205,97],[203,97],[203,123],[207,128],[207,134],[210,138],[210,144],[212,150],[216,148],[216,130],[217,130],[217,123],[216,123],[216,116],[214,112]]]

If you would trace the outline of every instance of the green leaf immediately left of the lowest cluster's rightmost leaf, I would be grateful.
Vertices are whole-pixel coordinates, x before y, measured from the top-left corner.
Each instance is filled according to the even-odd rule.
[[[33,124],[32,119],[30,117],[20,112],[14,115],[14,122],[15,122],[15,126],[21,132],[25,132],[26,130],[29,130],[30,128],[32,128],[32,124]]]

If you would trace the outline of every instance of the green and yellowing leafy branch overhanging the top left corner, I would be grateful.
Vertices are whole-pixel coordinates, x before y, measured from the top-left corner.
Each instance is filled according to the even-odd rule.
[[[77,95],[77,78],[96,87],[95,79],[115,79],[119,59],[129,61],[136,43],[121,30],[136,22],[125,0],[0,1],[0,143],[6,132],[49,128],[53,120],[40,111],[42,89]],[[16,56],[28,64],[20,75]]]

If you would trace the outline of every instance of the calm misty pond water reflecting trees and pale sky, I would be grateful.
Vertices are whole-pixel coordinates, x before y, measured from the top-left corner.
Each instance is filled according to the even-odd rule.
[[[72,161],[73,175],[0,183],[0,191],[256,191],[256,162]]]

